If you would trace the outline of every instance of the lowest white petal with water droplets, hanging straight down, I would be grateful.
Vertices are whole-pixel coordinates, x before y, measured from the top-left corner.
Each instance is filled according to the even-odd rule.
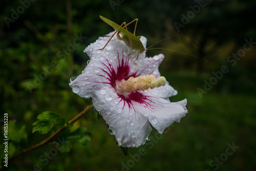
[[[95,109],[102,115],[115,135],[118,145],[123,147],[138,147],[145,143],[152,128],[147,117],[136,112],[113,90],[106,91],[103,95],[95,92],[93,99]]]

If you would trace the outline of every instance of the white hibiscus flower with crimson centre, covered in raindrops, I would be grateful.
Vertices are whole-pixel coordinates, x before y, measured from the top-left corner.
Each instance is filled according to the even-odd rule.
[[[138,147],[150,135],[151,125],[162,133],[170,124],[179,122],[187,113],[186,99],[169,101],[177,91],[160,77],[158,67],[163,54],[148,58],[142,53],[138,60],[137,53],[128,57],[134,50],[116,35],[103,50],[98,50],[108,40],[99,37],[84,50],[91,60],[70,86],[79,96],[92,97],[118,145]],[[140,40],[145,47],[146,38],[141,36]]]

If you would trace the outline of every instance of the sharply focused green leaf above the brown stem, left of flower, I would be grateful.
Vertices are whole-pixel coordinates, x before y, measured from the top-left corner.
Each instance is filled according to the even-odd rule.
[[[40,134],[46,134],[52,130],[54,125],[65,124],[65,119],[59,117],[57,114],[52,112],[43,112],[37,116],[38,121],[34,122],[32,133],[38,131]]]

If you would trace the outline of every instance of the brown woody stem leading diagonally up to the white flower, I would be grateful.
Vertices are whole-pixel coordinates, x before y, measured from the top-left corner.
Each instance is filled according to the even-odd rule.
[[[87,106],[87,108],[85,108],[82,112],[80,112],[78,115],[76,115],[73,119],[71,119],[68,123],[69,124],[73,124],[74,122],[76,122],[78,119],[80,119],[83,115],[85,115],[86,113],[88,113],[91,109],[93,108],[93,104]],[[44,141],[39,142],[38,144],[35,144],[34,146],[31,146],[27,149],[24,149],[22,152],[14,155],[9,161],[12,161],[16,158],[18,158],[19,156],[22,156],[30,151],[33,151],[36,148],[39,148],[42,145],[47,144],[48,142],[52,141],[57,135],[59,135],[62,131],[64,131],[67,128],[67,126],[62,126],[60,129],[58,129],[54,134],[52,134],[50,137],[48,137],[47,139],[45,139]]]

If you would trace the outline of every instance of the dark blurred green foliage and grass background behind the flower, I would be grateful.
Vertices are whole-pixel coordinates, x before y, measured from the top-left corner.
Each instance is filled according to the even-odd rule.
[[[84,48],[113,31],[99,15],[118,24],[139,18],[136,35],[147,37],[147,46],[170,37],[154,47],[208,60],[173,51],[147,52],[147,56],[165,55],[161,74],[179,92],[172,101],[187,98],[187,116],[157,142],[152,139],[139,148],[129,148],[124,156],[126,149],[120,149],[105,121],[91,111],[59,135],[69,143],[51,142],[9,162],[8,170],[125,170],[129,165],[130,170],[214,170],[216,166],[209,163],[225,154],[227,143],[232,142],[239,148],[218,170],[254,170],[256,50],[246,51],[234,66],[227,57],[243,49],[245,39],[256,41],[256,2],[205,1],[204,7],[197,8],[200,1],[113,1],[115,6],[102,0],[1,1],[0,108],[8,113],[9,158],[53,132],[32,134],[40,113],[52,111],[70,120],[89,104],[72,92],[69,82],[87,65]],[[189,16],[191,11],[194,16]],[[182,23],[184,16],[187,24]],[[6,17],[16,19],[7,24]],[[177,29],[175,22],[184,27]],[[229,72],[200,98],[197,88],[203,89],[204,80],[222,66]],[[1,131],[1,143],[3,136]],[[156,140],[160,135],[154,130],[152,136]],[[56,144],[63,148],[54,154]],[[140,149],[143,155],[134,158]],[[3,159],[3,145],[0,151]]]

